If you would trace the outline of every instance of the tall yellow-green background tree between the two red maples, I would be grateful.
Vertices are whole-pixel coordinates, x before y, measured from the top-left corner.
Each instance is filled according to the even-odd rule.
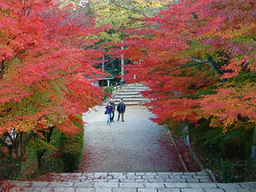
[[[110,45],[110,42],[121,42],[124,37],[127,37],[128,34],[124,34],[120,30],[122,28],[140,28],[145,25],[143,17],[151,18],[159,12],[162,7],[165,7],[167,4],[166,1],[162,0],[135,0],[135,1],[119,1],[119,0],[110,0],[110,1],[99,1],[91,0],[87,4],[84,4],[87,7],[92,15],[96,17],[97,26],[108,26],[105,31],[102,31],[101,34],[95,35],[95,38],[99,38],[100,41],[95,48],[98,46],[104,45],[104,49],[108,50],[113,45]],[[120,55],[118,55],[119,57]],[[108,59],[105,64],[110,61],[118,61],[113,55],[108,55],[106,53],[105,58]],[[116,62],[117,63],[117,62]],[[105,71],[110,72],[110,74],[116,75],[116,68],[121,70],[120,61],[117,66],[116,63],[111,63],[106,66]],[[127,60],[124,62],[127,63]],[[99,67],[102,67],[100,65]]]

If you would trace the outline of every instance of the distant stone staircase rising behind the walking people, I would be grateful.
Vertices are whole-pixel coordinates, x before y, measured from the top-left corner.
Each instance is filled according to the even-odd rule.
[[[140,91],[146,91],[148,88],[141,84],[129,84],[122,86],[122,89],[113,91],[112,97],[116,104],[119,103],[120,99],[124,99],[124,104],[127,105],[138,105],[143,102],[150,101],[147,98],[143,98]]]

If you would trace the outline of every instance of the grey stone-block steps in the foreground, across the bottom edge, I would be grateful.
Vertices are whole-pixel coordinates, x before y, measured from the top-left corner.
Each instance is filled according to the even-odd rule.
[[[44,182],[7,181],[0,191],[252,192],[256,183],[212,183],[206,172],[60,173]]]

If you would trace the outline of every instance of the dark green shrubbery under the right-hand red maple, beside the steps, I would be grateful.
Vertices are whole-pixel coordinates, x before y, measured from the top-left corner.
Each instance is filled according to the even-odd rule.
[[[250,160],[253,130],[211,128],[208,120],[189,125],[189,139],[204,160],[204,166],[217,174],[222,183],[256,181],[256,161]]]

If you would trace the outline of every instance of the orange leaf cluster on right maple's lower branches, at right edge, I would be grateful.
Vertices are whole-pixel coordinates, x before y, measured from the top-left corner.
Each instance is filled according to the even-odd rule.
[[[255,83],[222,86],[215,95],[205,96],[201,102],[200,118],[211,120],[210,126],[222,128],[252,128],[256,123]]]

